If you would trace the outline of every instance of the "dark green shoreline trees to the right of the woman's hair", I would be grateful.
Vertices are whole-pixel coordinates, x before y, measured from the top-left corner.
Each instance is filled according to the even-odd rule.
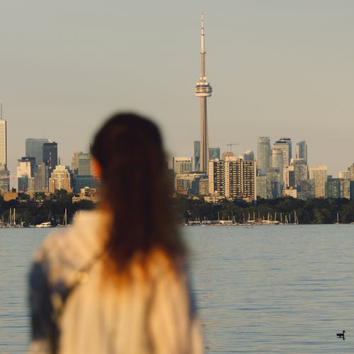
[[[174,204],[181,222],[205,220],[232,220],[243,224],[245,221],[277,219],[291,223],[296,218],[299,224],[350,224],[354,222],[354,200],[345,198],[299,200],[291,197],[258,199],[248,203],[242,200],[210,203],[200,199],[178,195]]]

